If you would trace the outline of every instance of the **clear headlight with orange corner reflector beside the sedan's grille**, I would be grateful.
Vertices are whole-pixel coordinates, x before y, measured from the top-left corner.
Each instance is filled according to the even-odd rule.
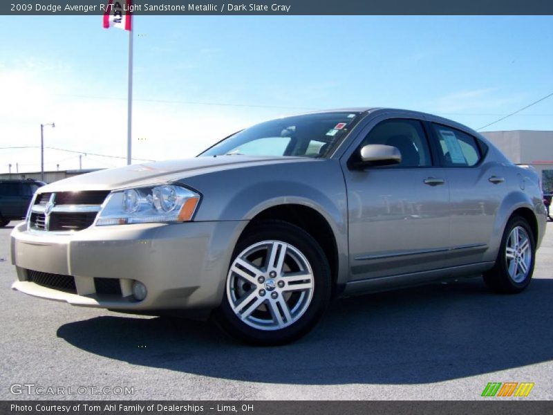
[[[199,201],[200,195],[185,187],[134,187],[111,193],[98,214],[96,225],[185,222],[192,219]]]

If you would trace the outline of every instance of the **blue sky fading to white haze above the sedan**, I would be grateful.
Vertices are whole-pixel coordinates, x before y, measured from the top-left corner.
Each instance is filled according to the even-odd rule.
[[[133,157],[194,156],[292,113],[389,106],[478,129],[553,92],[553,17],[135,18]],[[126,155],[128,37],[102,17],[0,17],[0,147]],[[553,97],[485,130],[553,130]],[[78,167],[48,149],[46,169]],[[39,149],[0,149],[0,172]],[[135,163],[138,163],[135,162]]]

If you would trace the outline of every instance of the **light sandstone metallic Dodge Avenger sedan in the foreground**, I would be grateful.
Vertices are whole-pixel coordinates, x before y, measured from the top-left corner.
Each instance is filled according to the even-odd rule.
[[[245,342],[283,344],[339,296],[477,275],[520,293],[544,230],[536,172],[476,131],[414,111],[323,111],[196,158],[41,187],[12,231],[12,288],[212,315]]]

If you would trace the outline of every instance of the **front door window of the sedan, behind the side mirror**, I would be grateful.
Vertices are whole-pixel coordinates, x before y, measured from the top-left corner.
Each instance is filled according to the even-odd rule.
[[[432,159],[422,124],[418,120],[386,120],[367,134],[361,147],[368,144],[391,145],[400,150],[402,162],[391,167],[431,166]],[[359,147],[359,148],[361,148]]]

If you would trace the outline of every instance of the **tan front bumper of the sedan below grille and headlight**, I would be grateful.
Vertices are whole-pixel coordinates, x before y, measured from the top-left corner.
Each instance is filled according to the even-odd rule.
[[[216,308],[245,225],[247,221],[145,223],[93,226],[62,235],[28,232],[21,223],[10,238],[18,278],[12,288],[75,306],[118,311]],[[68,293],[31,282],[31,270],[74,278],[75,290]],[[120,291],[97,292],[97,279],[116,279]],[[147,287],[142,301],[132,296],[133,281]]]

